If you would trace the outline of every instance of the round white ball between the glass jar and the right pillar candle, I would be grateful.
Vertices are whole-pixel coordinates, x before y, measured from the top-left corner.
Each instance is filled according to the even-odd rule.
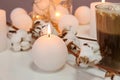
[[[75,16],[79,20],[79,24],[90,23],[90,8],[87,6],[81,6],[75,11]]]

